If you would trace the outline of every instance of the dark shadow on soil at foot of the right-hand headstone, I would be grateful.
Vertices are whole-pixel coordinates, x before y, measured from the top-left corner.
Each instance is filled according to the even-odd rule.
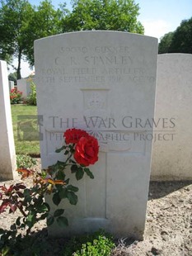
[[[169,181],[169,182],[150,182],[148,200],[165,197],[166,195],[189,186],[191,181]]]

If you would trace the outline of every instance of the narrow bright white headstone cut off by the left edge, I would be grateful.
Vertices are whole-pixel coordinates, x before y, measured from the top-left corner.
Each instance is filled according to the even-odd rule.
[[[12,130],[7,63],[0,60],[0,179],[16,178],[16,151]]]

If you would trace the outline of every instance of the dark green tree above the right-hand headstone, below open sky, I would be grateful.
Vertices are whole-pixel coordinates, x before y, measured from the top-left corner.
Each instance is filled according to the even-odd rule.
[[[159,43],[159,53],[192,54],[192,17],[181,21],[176,31],[162,37]]]

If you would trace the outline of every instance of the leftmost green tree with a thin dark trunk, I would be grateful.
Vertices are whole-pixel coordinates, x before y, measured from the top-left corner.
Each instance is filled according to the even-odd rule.
[[[21,78],[21,56],[28,40],[26,31],[33,16],[33,8],[26,0],[7,0],[1,3],[2,57],[14,55],[18,59],[17,78]]]

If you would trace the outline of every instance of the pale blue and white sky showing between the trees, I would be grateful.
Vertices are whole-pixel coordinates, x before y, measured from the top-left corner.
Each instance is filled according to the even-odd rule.
[[[38,6],[40,1],[29,0],[30,4]],[[59,3],[66,2],[70,10],[70,0],[52,0],[54,7],[59,7]],[[180,22],[192,17],[192,0],[135,0],[138,3],[139,16],[144,26],[145,36],[154,36],[158,40],[166,33],[175,31]],[[16,62],[15,62],[16,64]],[[10,69],[10,72],[13,72]],[[26,77],[32,71],[24,61],[21,63],[21,76]]]

